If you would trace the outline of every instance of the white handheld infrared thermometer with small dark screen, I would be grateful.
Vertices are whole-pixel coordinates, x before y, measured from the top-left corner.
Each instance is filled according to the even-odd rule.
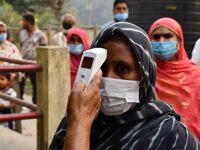
[[[107,50],[104,48],[93,48],[84,51],[75,82],[81,80],[86,84],[86,86],[89,85],[90,81],[103,65],[106,58]]]

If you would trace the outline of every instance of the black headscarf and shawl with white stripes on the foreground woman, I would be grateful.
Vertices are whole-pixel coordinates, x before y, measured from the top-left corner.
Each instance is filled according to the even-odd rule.
[[[143,87],[140,103],[121,116],[99,113],[91,129],[92,150],[198,150],[195,139],[172,108],[155,99],[155,62],[150,41],[139,27],[125,22],[112,24],[99,33],[91,47],[101,47],[113,35],[130,43],[140,65]],[[67,120],[62,120],[49,150],[62,150]]]

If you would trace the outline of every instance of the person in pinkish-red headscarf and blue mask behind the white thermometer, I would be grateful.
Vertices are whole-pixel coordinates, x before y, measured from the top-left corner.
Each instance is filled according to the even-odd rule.
[[[67,33],[67,45],[70,52],[71,87],[74,84],[81,56],[89,49],[86,32],[81,28],[72,28]]]

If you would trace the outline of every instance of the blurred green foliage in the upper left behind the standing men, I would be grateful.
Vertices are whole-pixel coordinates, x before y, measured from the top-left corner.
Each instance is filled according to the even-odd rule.
[[[68,1],[0,0],[0,20],[4,21],[9,27],[19,29],[19,21],[22,15],[31,13],[35,16],[36,24],[39,28],[58,27],[61,25],[61,15],[66,10],[69,12],[72,9]]]

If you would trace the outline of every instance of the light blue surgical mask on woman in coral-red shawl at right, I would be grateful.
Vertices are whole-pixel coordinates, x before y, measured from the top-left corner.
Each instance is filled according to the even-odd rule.
[[[162,61],[169,61],[177,53],[177,42],[151,42],[153,53]]]

